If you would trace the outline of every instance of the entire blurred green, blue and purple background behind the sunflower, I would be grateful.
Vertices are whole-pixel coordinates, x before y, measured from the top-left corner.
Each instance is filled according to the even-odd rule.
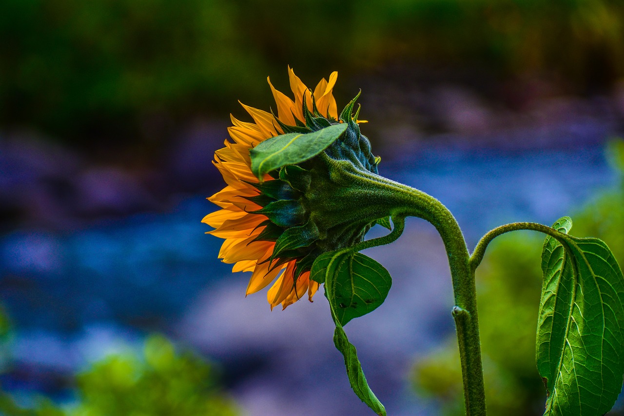
[[[380,173],[470,247],[572,215],[624,264],[620,0],[3,0],[0,39],[0,414],[371,413],[326,299],[245,299],[200,223],[229,114],[268,110],[288,65],[338,71],[340,108],[361,89]],[[541,245],[501,237],[477,272],[494,416],[543,411]],[[394,279],[346,327],[371,387],[391,415],[462,414],[439,236],[413,219],[366,254]]]

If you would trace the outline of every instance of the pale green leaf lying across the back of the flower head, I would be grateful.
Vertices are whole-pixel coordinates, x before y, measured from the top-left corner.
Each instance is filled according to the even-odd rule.
[[[307,161],[336,141],[347,126],[332,124],[311,133],[288,133],[266,139],[250,150],[251,172],[262,181],[268,172]]]

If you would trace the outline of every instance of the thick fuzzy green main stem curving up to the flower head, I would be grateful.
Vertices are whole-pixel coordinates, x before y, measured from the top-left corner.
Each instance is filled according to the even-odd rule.
[[[336,169],[343,177],[334,179],[351,184],[357,194],[358,206],[371,207],[371,215],[379,215],[391,207],[392,218],[414,216],[430,222],[442,237],[446,248],[455,307],[452,310],[461,356],[464,399],[468,416],[485,415],[485,389],[477,317],[477,294],[474,270],[470,268],[470,255],[466,240],[451,212],[432,196],[412,187],[399,184],[382,176],[349,169]],[[381,217],[381,215],[379,215]],[[402,220],[401,225],[402,228]]]

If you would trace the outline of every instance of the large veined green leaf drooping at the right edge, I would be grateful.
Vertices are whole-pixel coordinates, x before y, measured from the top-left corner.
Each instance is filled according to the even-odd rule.
[[[567,235],[563,217],[542,250],[537,368],[545,415],[603,415],[622,390],[624,277],[607,244]]]

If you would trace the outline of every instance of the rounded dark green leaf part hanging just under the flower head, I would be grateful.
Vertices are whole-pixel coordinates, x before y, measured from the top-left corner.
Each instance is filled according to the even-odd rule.
[[[383,304],[392,285],[383,265],[356,252],[339,250],[320,255],[312,266],[310,279],[327,284],[330,274],[334,284],[328,299],[343,326]]]

